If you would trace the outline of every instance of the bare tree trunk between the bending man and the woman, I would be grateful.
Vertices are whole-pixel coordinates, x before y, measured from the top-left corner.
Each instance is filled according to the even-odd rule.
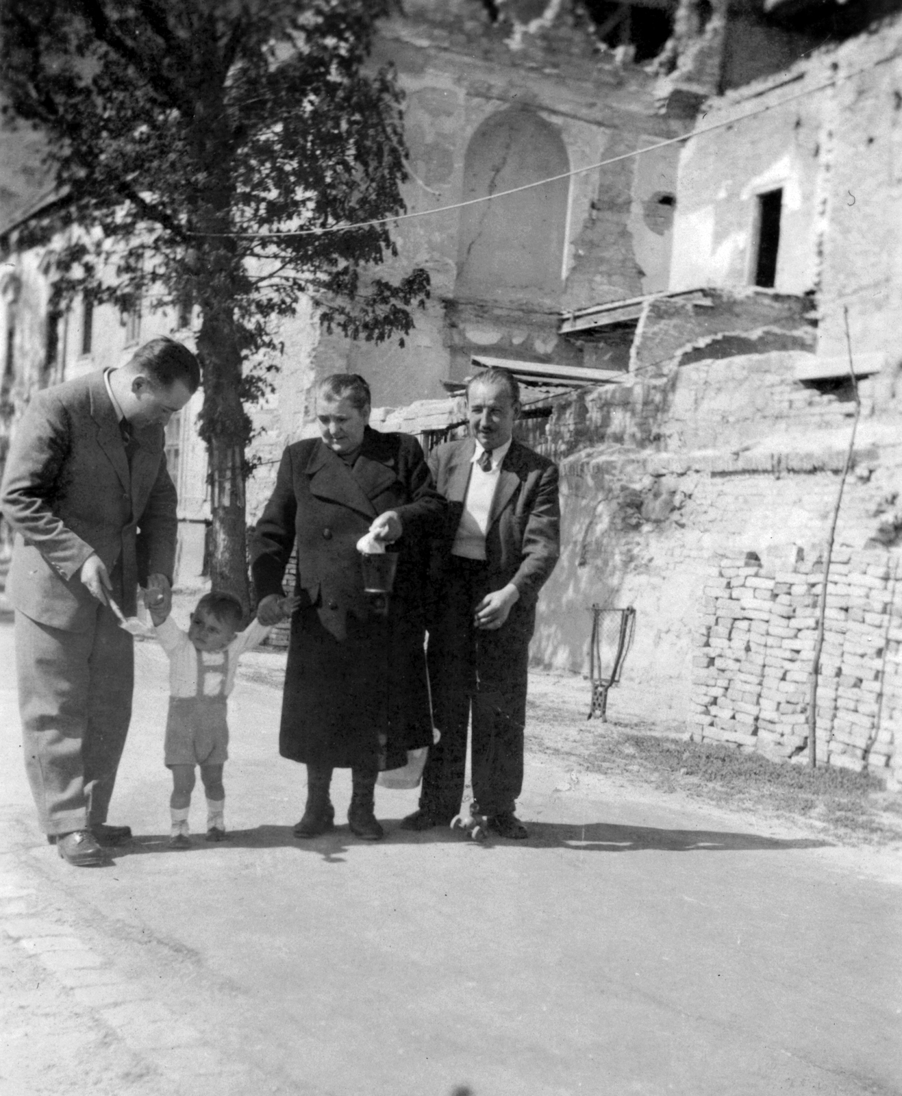
[[[197,355],[204,374],[201,436],[206,442],[209,461],[210,579],[214,590],[235,594],[247,612],[250,589],[244,446],[250,435],[250,420],[241,406],[241,353],[230,313],[204,313]]]

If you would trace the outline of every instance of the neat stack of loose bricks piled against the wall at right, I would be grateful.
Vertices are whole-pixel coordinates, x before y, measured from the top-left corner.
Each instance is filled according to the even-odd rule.
[[[821,764],[902,778],[900,552],[833,552],[817,690]],[[717,560],[694,633],[689,734],[807,762],[824,563]]]

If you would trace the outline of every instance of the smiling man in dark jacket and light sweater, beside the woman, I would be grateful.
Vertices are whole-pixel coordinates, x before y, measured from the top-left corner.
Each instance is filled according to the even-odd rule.
[[[430,467],[448,500],[438,546],[429,670],[442,732],[408,830],[447,825],[464,795],[472,724],[473,813],[503,837],[525,837],[523,787],[529,640],[539,589],[560,553],[558,469],[512,437],[518,386],[504,369],[467,387],[471,436],[439,446]]]

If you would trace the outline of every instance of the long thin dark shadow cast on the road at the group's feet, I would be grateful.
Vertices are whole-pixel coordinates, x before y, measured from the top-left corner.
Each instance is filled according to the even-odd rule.
[[[459,832],[436,827],[424,833],[401,830],[389,821],[386,840],[392,844],[472,844]],[[185,853],[224,850],[228,848],[296,848],[299,853],[316,853],[327,860],[342,861],[341,853],[361,842],[347,826],[338,825],[331,833],[308,841],[298,841],[290,826],[259,825],[252,830],[232,830],[222,843],[207,842],[203,834],[192,836],[190,849],[169,847],[168,834],[136,836],[128,845],[112,850],[115,857],[167,853],[172,856]],[[764,837],[754,833],[728,833],[721,830],[663,830],[655,826],[617,825],[613,822],[591,822],[569,825],[559,822],[532,822],[526,841],[490,838],[479,848],[569,848],[578,853],[640,853],[661,850],[669,853],[778,853],[797,848],[824,848],[830,842],[814,837]]]

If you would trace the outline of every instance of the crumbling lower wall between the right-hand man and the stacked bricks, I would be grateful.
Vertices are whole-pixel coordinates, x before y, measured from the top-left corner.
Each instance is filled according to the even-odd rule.
[[[654,719],[687,716],[711,559],[741,547],[784,567],[799,547],[822,548],[854,410],[842,391],[796,379],[809,351],[687,362],[692,345],[654,373],[555,400],[540,446],[561,469],[562,556],[539,600],[533,658],[587,673],[591,605],[633,605],[624,688],[630,709]],[[860,383],[837,527],[837,543],[853,548],[900,541],[899,384],[889,369]]]

